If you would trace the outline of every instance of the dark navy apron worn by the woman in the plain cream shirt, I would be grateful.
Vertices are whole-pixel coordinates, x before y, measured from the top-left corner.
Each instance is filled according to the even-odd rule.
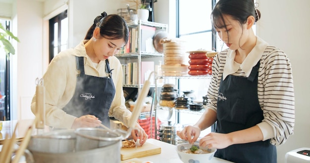
[[[110,126],[108,111],[115,95],[115,86],[108,60],[105,60],[105,73],[108,77],[86,75],[84,57],[76,57],[76,68],[80,74],[77,77],[75,92],[63,110],[75,117],[94,115],[105,126]]]

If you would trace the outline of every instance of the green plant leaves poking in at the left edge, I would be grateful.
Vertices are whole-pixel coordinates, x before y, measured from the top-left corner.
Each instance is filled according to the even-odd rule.
[[[15,48],[8,40],[8,37],[11,37],[12,39],[19,42],[19,39],[15,37],[10,31],[6,30],[0,23],[0,48],[3,47],[6,55],[15,54]]]

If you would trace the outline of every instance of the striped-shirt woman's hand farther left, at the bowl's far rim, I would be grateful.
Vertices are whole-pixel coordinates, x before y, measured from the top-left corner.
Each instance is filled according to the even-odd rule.
[[[188,125],[184,127],[182,131],[177,131],[177,135],[181,139],[187,140],[190,144],[193,144],[198,139],[200,132],[201,130],[199,127]],[[192,138],[192,136],[194,137]]]

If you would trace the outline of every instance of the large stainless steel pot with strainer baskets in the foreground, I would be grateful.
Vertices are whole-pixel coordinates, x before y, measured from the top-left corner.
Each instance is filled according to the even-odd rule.
[[[122,136],[116,132],[100,128],[52,131],[31,137],[26,160],[27,163],[120,163],[121,140]],[[70,147],[65,148],[67,145]]]

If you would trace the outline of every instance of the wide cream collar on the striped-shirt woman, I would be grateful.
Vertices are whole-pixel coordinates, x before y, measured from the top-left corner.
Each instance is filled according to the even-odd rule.
[[[267,42],[263,41],[258,36],[256,38],[256,45],[248,54],[246,59],[242,62],[242,64],[235,62],[236,51],[228,49],[226,63],[223,70],[223,80],[225,80],[228,75],[236,73],[239,70],[239,67],[242,69],[242,71],[245,72],[247,77],[250,76],[252,68],[258,63],[263,52],[268,46]]]

